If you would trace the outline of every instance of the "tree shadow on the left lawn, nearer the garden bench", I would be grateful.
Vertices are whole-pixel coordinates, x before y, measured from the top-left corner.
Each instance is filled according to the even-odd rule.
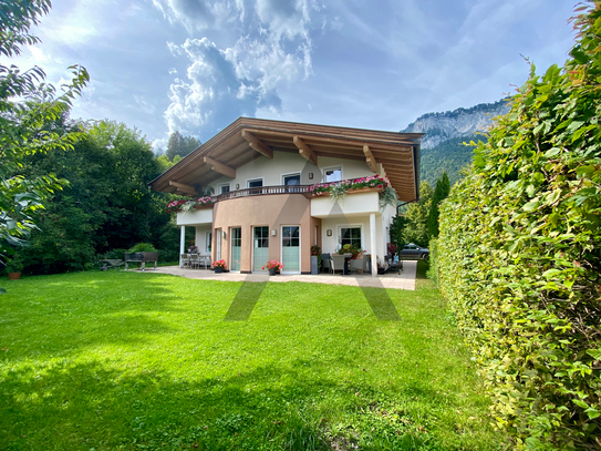
[[[144,344],[174,330],[163,314],[180,311],[176,295],[151,278],[135,284],[103,273],[93,279],[39,277],[48,277],[49,283],[41,286],[37,277],[35,288],[28,291],[25,279],[22,291],[9,291],[2,299],[3,346],[10,348],[11,360],[63,357],[99,344]],[[13,337],[12,346],[7,337]]]

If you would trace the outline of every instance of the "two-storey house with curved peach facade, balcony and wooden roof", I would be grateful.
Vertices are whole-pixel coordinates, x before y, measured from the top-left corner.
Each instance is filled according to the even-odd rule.
[[[314,245],[332,253],[358,244],[383,262],[396,207],[381,208],[382,187],[333,202],[314,185],[377,175],[398,201],[415,201],[423,136],[240,117],[149,185],[194,198],[213,188],[195,208],[177,213],[180,250],[185,227],[195,227],[200,253],[226,260],[230,271],[262,271],[276,259],[284,274],[308,274]]]

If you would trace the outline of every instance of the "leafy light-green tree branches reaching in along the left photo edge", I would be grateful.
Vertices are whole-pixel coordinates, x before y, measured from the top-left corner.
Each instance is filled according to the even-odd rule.
[[[19,55],[21,45],[39,43],[29,29],[50,7],[50,0],[2,2],[0,54]],[[72,148],[81,135],[77,131],[61,134],[46,126],[66,114],[90,80],[84,68],[69,69],[73,79],[56,94],[54,86],[43,83],[42,69],[21,72],[15,65],[0,64],[0,260],[27,242],[35,228],[41,201],[64,184],[52,173],[28,180],[21,170],[27,155]]]

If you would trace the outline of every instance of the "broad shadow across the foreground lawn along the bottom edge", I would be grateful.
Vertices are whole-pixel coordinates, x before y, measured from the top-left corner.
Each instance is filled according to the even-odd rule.
[[[276,366],[186,381],[110,362],[54,365],[10,371],[0,387],[0,449],[441,449],[424,413],[442,402],[436,393],[402,393],[424,399],[412,412],[391,402],[393,390]]]

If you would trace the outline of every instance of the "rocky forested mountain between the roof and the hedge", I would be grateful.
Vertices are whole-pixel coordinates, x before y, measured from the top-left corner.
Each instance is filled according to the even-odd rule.
[[[422,142],[419,178],[432,186],[446,171],[452,184],[460,178],[459,171],[472,162],[474,147],[464,142],[486,141],[493,117],[509,111],[507,99],[495,103],[480,103],[469,109],[445,113],[427,113],[419,116],[402,132],[425,133]]]

